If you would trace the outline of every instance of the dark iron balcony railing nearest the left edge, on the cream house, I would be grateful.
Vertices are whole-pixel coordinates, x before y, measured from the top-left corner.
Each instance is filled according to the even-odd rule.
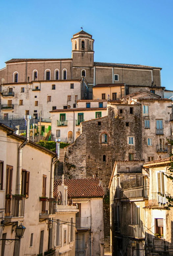
[[[5,199],[5,216],[21,217],[24,216],[25,198],[23,196],[14,196]]]

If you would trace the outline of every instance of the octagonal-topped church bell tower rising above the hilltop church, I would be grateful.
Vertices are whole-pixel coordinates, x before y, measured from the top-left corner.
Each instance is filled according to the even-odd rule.
[[[88,34],[84,30],[81,30],[80,32],[73,35],[71,42],[73,79],[82,79],[82,76],[84,76],[87,83],[89,84],[89,91],[92,93],[94,73],[94,39],[92,39],[92,35]]]

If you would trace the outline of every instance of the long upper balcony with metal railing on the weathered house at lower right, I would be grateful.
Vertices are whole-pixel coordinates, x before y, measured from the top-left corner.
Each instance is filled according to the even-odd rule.
[[[120,200],[136,201],[148,198],[149,187],[134,187],[120,191]]]

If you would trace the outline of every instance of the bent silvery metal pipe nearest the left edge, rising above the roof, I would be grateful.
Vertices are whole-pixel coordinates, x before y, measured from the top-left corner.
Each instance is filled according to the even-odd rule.
[[[21,174],[22,174],[22,150],[25,145],[29,142],[29,128],[30,128],[30,119],[31,116],[25,116],[26,120],[26,139],[25,141],[19,146],[18,149],[18,166],[17,166],[17,194],[21,194]]]

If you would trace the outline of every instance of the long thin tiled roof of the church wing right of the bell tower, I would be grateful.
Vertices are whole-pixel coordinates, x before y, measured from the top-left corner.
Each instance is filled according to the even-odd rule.
[[[136,69],[162,69],[152,66],[144,66],[137,64],[121,64],[121,63],[107,63],[107,62],[94,62],[94,66],[111,66],[111,67],[122,67],[122,68],[136,68]]]

